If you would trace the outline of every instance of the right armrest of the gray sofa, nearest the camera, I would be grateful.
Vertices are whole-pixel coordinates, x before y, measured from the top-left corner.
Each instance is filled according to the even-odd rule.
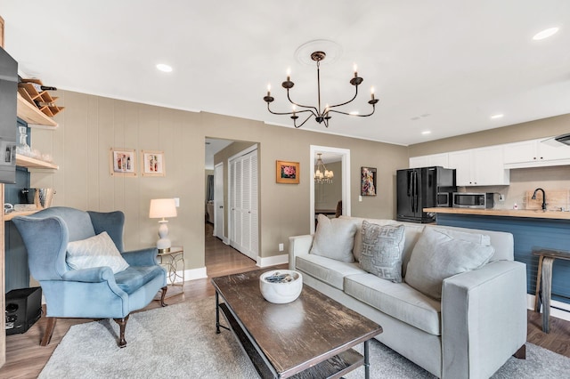
[[[525,342],[524,263],[491,262],[444,280],[443,377],[489,377]]]

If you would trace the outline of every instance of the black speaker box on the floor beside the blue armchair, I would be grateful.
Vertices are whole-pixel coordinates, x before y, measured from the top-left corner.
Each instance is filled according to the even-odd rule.
[[[6,294],[6,335],[26,333],[41,316],[41,287],[12,289]]]

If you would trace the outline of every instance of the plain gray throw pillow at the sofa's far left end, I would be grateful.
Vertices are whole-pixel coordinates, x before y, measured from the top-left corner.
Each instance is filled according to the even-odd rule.
[[[309,254],[322,255],[342,262],[354,262],[353,245],[356,224],[350,220],[330,219],[319,214],[313,246]]]

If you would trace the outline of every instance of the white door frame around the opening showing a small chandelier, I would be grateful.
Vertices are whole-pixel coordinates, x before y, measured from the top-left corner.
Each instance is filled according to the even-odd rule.
[[[342,214],[349,216],[350,215],[350,149],[339,149],[339,148],[331,148],[329,146],[317,146],[317,145],[311,145],[310,146],[310,162],[312,162],[313,164],[311,165],[311,170],[310,170],[310,178],[309,181],[311,183],[310,185],[310,191],[311,191],[311,196],[310,196],[310,207],[311,207],[311,220],[310,220],[310,230],[309,232],[312,234],[314,233],[314,229],[315,229],[315,222],[314,222],[314,216],[315,216],[315,198],[314,198],[314,189],[315,189],[315,183],[314,183],[314,165],[316,164],[316,160],[317,160],[317,154],[321,153],[323,154],[323,157],[326,155],[334,155],[334,156],[338,156],[340,158],[341,161],[341,171],[342,171],[342,177],[341,177],[341,181],[342,181]],[[333,179],[334,180],[334,179]]]

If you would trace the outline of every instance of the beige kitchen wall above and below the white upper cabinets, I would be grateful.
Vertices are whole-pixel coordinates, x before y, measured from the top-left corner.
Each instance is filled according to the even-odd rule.
[[[516,141],[533,140],[558,134],[570,133],[570,115],[549,117],[523,124],[509,125],[479,133],[460,135],[439,141],[419,143],[409,146],[410,157],[442,153],[460,149],[475,149]],[[570,149],[570,148],[568,148]],[[550,206],[570,206],[570,167],[567,165],[519,168],[510,170],[509,186],[464,187],[467,192],[495,192],[505,196],[504,202],[498,202],[495,196],[495,208],[512,208],[515,204],[525,208],[528,191],[541,187],[546,191]],[[566,198],[564,198],[566,192]]]

